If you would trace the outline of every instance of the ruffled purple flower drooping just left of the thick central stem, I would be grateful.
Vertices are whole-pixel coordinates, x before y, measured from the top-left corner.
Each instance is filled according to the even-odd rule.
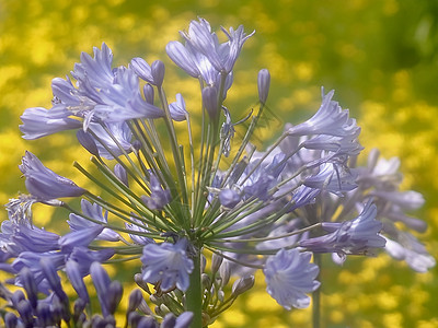
[[[149,283],[160,282],[163,291],[177,289],[186,291],[189,284],[189,273],[194,269],[193,260],[186,255],[187,241],[180,239],[176,244],[148,244],[143,247],[142,279]]]

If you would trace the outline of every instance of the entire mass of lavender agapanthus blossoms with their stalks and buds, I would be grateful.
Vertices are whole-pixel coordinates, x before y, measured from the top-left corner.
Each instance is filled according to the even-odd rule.
[[[234,63],[254,33],[243,26],[222,32],[224,43],[199,19],[181,33],[184,43],[166,46],[169,57],[199,81],[196,136],[194,109],[183,95],[166,98],[163,62],[134,58],[113,68],[105,44],[93,57],[81,55],[73,80],[53,80],[51,108],[24,112],[24,139],[77,131],[99,174],[74,166],[102,194],[59,176],[31,152],[23,156],[30,194],[10,200],[0,233],[0,269],[11,277],[0,284],[7,327],[116,326],[123,286],[102,266],[112,261],[138,263],[132,280],[139,289],[129,296],[125,327],[206,327],[253,286],[257,269],[281,306],[308,307],[308,294],[320,286],[311,261],[320,253],[342,263],[384,248],[416,271],[435,266],[407,232],[426,230],[405,213],[424,203],[422,195],[400,191],[397,159],[379,159],[373,150],[367,165],[357,166],[360,128],[333,91],[322,92],[310,119],[286,124],[270,147],[256,149],[252,137],[268,110],[270,75],[258,72],[258,109],[237,121],[224,104]],[[247,129],[233,142],[242,121]],[[81,198],[81,208],[60,200],[69,197]],[[34,225],[36,202],[68,209],[70,232]],[[91,308],[89,274],[100,314]],[[61,277],[77,297],[67,295]]]

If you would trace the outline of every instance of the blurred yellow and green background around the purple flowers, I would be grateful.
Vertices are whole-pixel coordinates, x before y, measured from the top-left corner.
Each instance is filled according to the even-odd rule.
[[[320,87],[336,90],[362,127],[367,152],[400,156],[404,189],[424,194],[416,214],[429,224],[422,239],[438,257],[438,2],[427,0],[0,0],[0,202],[25,192],[18,165],[25,150],[79,185],[72,167],[89,155],[73,133],[25,141],[18,126],[27,107],[50,107],[50,81],[65,77],[81,51],[102,42],[114,63],[140,56],[165,59],[169,94],[193,94],[166,59],[169,40],[180,39],[191,20],[214,28],[243,24],[256,31],[237,65],[227,106],[246,113],[256,103],[258,69],[272,72],[268,105],[273,131],[299,122],[319,107]],[[169,63],[169,65],[168,65]],[[243,114],[242,114],[243,115]],[[66,212],[36,208],[37,224],[67,230]],[[0,211],[0,221],[7,218]],[[62,222],[62,223],[60,223]],[[325,259],[322,306],[325,327],[438,327],[437,268],[415,273],[382,254],[349,258],[343,267]],[[123,277],[125,270],[113,270]],[[309,311],[286,312],[265,293],[263,277],[212,327],[309,327]]]

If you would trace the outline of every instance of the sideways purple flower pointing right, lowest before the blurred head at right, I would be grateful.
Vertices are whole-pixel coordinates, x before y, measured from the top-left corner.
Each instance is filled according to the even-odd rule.
[[[342,223],[322,223],[322,227],[331,234],[304,239],[301,247],[315,253],[337,253],[345,259],[345,255],[368,255],[373,248],[382,248],[385,239],[379,234],[382,223],[374,220],[377,208],[368,202],[359,216]]]

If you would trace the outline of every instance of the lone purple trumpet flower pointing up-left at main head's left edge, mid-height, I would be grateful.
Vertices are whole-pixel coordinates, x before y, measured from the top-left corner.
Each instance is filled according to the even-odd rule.
[[[78,187],[72,180],[57,175],[31,152],[23,156],[20,171],[26,177],[26,188],[41,201],[48,201],[61,197],[78,197],[87,190]]]

